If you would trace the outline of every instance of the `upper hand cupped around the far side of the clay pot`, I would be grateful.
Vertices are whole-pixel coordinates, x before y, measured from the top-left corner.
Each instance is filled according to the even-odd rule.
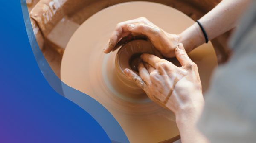
[[[113,48],[117,42],[130,34],[147,36],[164,57],[171,58],[175,56],[175,46],[179,43],[179,36],[167,33],[145,17],[118,23],[107,47],[104,49],[104,53],[115,50]]]

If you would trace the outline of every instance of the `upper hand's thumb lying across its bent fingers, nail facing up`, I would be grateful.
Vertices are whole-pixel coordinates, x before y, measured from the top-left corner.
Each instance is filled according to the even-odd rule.
[[[161,32],[161,29],[143,22],[133,23],[127,25],[128,31],[146,35],[149,39],[154,39]]]

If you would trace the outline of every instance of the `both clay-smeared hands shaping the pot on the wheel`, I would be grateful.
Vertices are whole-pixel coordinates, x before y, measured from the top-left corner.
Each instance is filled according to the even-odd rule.
[[[130,34],[147,36],[163,56],[176,56],[182,65],[177,67],[165,59],[144,53],[141,55],[143,62],[138,66],[139,76],[130,69],[124,70],[152,101],[172,110],[176,116],[203,104],[197,65],[189,59],[178,35],[169,34],[140,17],[117,24],[104,52],[111,52],[120,39]]]

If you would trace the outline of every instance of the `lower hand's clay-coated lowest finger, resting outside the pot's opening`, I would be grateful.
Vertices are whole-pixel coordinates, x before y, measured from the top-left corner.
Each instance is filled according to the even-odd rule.
[[[142,88],[144,91],[146,90],[146,84],[145,82],[140,78],[140,76],[138,76],[136,73],[134,73],[132,70],[130,69],[125,69],[124,73],[126,76],[128,76],[129,79],[131,79],[132,81],[134,81],[134,83],[137,84],[138,87]]]

